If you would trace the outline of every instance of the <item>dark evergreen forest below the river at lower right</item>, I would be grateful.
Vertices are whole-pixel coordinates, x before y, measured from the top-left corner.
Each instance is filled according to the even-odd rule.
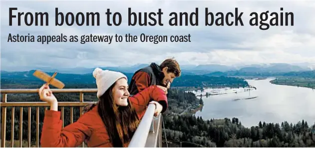
[[[164,122],[167,141],[177,144],[172,147],[315,147],[315,123],[304,120],[297,124],[259,122],[251,128],[237,118],[166,116]]]

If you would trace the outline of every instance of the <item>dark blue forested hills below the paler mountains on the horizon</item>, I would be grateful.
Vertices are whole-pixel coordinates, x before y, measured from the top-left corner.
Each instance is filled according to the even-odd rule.
[[[1,89],[7,88],[37,88],[44,82],[33,76],[35,70],[23,72],[1,72]],[[48,72],[52,75],[53,73]],[[133,73],[124,73],[128,78],[128,83]],[[95,79],[92,74],[64,74],[59,73],[56,79],[63,82],[66,87],[96,88]],[[201,87],[201,86],[227,86],[227,87],[246,87],[248,83],[244,79],[235,77],[210,77],[205,75],[182,75],[174,79],[173,87]]]

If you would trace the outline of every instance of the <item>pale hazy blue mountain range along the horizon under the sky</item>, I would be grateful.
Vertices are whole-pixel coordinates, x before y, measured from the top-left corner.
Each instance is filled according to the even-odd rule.
[[[101,67],[102,69],[120,71],[124,73],[134,73],[140,68],[148,66],[149,64],[137,64],[130,67]],[[13,68],[12,68],[13,69]],[[94,68],[47,68],[47,67],[22,67],[19,71],[29,70],[42,70],[45,72],[66,73],[66,74],[91,74]],[[213,72],[228,72],[238,71],[243,73],[279,73],[279,72],[299,72],[299,71],[310,71],[315,70],[315,65],[309,63],[298,63],[298,64],[286,64],[286,63],[273,63],[273,64],[255,64],[255,65],[242,65],[242,66],[226,66],[219,64],[206,64],[206,65],[181,65],[182,73],[186,75],[203,75]],[[4,70],[12,71],[12,70]],[[3,71],[1,70],[1,73]]]

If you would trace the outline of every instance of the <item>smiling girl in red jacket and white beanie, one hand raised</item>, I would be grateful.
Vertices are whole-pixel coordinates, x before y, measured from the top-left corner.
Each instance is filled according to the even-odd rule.
[[[128,147],[149,103],[156,105],[155,116],[167,109],[164,87],[149,86],[129,96],[124,74],[96,68],[93,76],[99,99],[97,105],[63,129],[57,99],[46,84],[39,89],[40,100],[50,104],[50,110],[45,112],[41,147],[73,148],[85,140],[88,147]]]

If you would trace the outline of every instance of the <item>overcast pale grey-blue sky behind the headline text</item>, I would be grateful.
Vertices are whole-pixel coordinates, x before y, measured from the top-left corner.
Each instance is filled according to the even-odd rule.
[[[49,26],[21,26],[17,18],[9,26],[9,7],[17,12],[48,12]],[[54,26],[55,7],[66,12],[99,12],[100,26]],[[164,26],[128,26],[128,7],[134,12],[157,12],[162,9]],[[193,12],[199,7],[199,26],[169,26],[170,12]],[[244,26],[205,26],[205,8],[211,12],[244,12]],[[250,26],[251,12],[294,13],[294,26],[270,26],[261,30]],[[120,26],[106,24],[106,9],[122,14]],[[13,67],[96,67],[130,66],[138,63],[160,63],[175,57],[180,64],[242,65],[258,63],[315,63],[315,1],[1,1],[1,70]],[[215,16],[216,18],[217,16]],[[156,17],[157,18],[157,17]],[[269,17],[270,20],[270,17]],[[231,21],[231,20],[230,20]],[[280,20],[279,20],[280,22]],[[285,20],[284,20],[285,22]],[[289,20],[290,22],[290,20]],[[269,21],[267,22],[269,23]],[[191,42],[126,43],[93,42],[7,42],[12,35],[191,35]]]

